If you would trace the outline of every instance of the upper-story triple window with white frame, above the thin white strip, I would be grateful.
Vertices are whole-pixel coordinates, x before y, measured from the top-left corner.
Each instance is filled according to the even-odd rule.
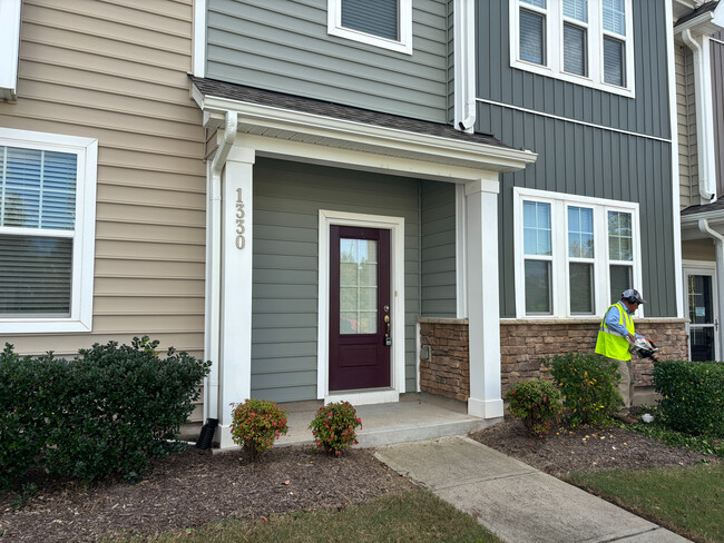
[[[634,97],[632,0],[510,0],[515,68]]]

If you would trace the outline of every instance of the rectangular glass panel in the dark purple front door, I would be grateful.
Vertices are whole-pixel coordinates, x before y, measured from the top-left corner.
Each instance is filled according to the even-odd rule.
[[[340,333],[378,332],[378,243],[340,239]]]

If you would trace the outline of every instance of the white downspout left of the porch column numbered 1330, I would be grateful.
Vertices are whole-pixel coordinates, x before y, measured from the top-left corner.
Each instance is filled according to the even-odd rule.
[[[212,361],[212,368],[206,378],[205,413],[207,418],[218,419],[218,375],[219,375],[219,342],[221,342],[221,306],[222,306],[222,170],[228,152],[236,140],[236,112],[226,111],[224,134],[216,148],[216,154],[209,167],[208,213],[206,221],[206,355]]]

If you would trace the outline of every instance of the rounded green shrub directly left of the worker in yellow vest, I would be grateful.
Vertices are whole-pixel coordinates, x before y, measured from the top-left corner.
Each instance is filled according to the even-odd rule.
[[[618,363],[584,353],[555,355],[544,359],[564,395],[570,426],[608,425],[622,402],[616,389],[620,381]]]

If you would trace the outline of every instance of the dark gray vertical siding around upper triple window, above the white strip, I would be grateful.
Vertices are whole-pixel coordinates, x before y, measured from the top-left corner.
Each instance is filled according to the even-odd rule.
[[[508,1],[479,0],[477,7],[478,97],[583,122],[671,138],[665,0],[633,2],[635,98],[623,97],[510,67]],[[489,128],[486,128],[489,127]],[[508,145],[499,113],[478,131]]]

